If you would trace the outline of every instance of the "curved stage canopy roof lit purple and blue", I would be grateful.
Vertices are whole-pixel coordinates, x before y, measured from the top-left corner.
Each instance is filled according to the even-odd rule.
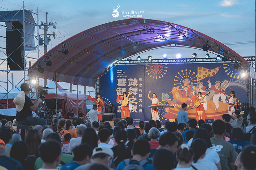
[[[29,73],[39,78],[94,87],[95,78],[118,60],[159,47],[183,46],[202,49],[208,44],[215,54],[228,55],[244,67],[249,63],[219,41],[190,28],[173,23],[130,18],[95,26],[58,44],[40,57]],[[65,47],[64,47],[65,46]],[[64,55],[60,51],[68,49]],[[45,65],[46,57],[52,65]],[[43,67],[39,74],[37,67]]]

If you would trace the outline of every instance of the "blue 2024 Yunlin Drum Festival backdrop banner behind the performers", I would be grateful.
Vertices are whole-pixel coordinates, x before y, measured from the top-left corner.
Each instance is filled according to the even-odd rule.
[[[196,108],[191,99],[193,92],[202,92],[206,96],[204,106],[207,119],[221,119],[228,113],[228,97],[218,88],[230,96],[235,91],[239,109],[248,103],[248,78],[241,77],[241,70],[235,70],[233,63],[197,63],[197,64],[143,64],[117,65],[100,78],[100,90],[105,104],[112,103],[116,110],[116,117],[121,116],[121,100],[117,103],[116,89],[120,96],[132,88],[129,98],[132,102],[130,116],[134,124],[139,121],[151,120],[152,101],[148,99],[155,92],[160,104],[171,105],[174,108],[159,108],[162,111],[161,120],[174,121],[181,104],[187,104],[188,117],[196,118]]]

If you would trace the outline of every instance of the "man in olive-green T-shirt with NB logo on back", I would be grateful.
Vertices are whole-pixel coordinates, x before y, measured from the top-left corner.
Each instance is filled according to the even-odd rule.
[[[221,169],[235,169],[235,161],[236,161],[236,150],[234,146],[227,141],[224,140],[224,132],[226,129],[225,123],[218,119],[212,123],[212,131],[214,133],[214,137],[212,137],[211,149],[218,152],[220,156],[220,165]],[[223,146],[223,147],[221,147]]]

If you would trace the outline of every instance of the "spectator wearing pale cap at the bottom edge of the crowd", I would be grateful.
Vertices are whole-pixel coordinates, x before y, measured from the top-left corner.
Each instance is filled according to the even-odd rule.
[[[111,168],[113,164],[114,152],[112,149],[108,147],[97,147],[92,151],[92,164],[101,164],[108,166],[110,170],[114,170]],[[77,167],[75,170],[84,170],[92,164],[85,164]]]

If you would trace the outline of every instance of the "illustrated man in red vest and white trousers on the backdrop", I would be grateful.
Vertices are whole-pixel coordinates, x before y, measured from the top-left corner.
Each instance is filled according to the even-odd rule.
[[[208,84],[209,88],[211,90],[214,90],[214,95],[213,95],[212,101],[215,104],[214,109],[217,110],[219,108],[219,98],[220,97],[221,97],[221,100],[222,100],[223,103],[226,103],[226,101],[227,101],[226,96],[224,94],[222,94],[221,91],[220,91],[221,82],[220,82],[220,80],[218,80],[218,81],[215,82],[215,85],[212,85],[210,80],[208,80],[207,83],[209,83]]]

